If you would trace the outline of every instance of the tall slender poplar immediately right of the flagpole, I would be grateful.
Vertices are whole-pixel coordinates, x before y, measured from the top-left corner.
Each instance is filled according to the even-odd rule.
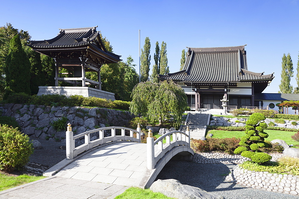
[[[150,40],[145,38],[143,49],[141,49],[141,81],[145,82],[149,78],[149,66],[150,66]]]

